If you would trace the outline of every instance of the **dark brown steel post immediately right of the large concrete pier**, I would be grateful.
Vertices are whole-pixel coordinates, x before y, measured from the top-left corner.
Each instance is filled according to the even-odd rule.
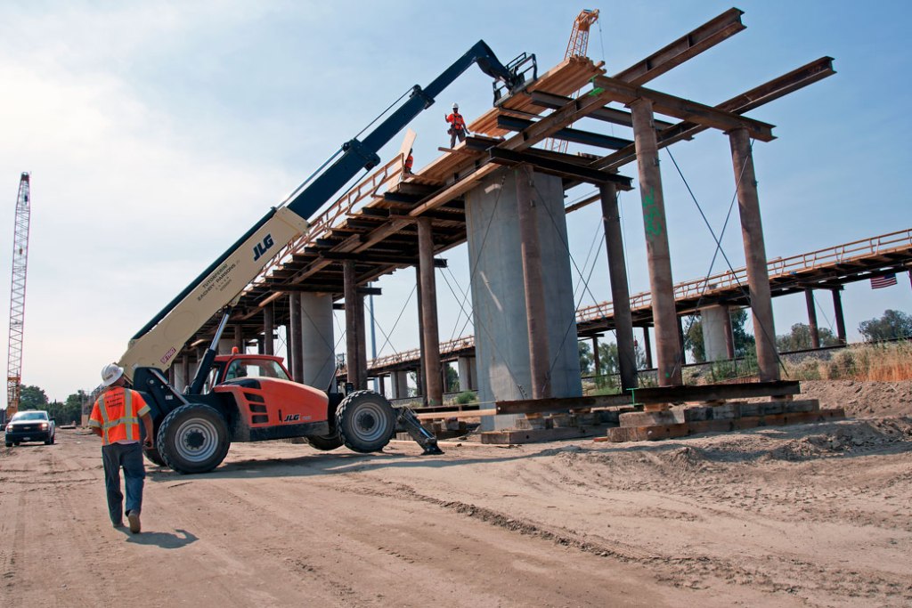
[[[617,366],[621,374],[621,391],[637,387],[637,349],[633,339],[633,315],[630,312],[630,288],[627,285],[627,261],[621,236],[621,214],[617,209],[617,186],[599,186],[602,198],[602,222],[608,254],[608,278],[611,281],[611,305],[615,311]],[[597,360],[597,359],[596,359]]]

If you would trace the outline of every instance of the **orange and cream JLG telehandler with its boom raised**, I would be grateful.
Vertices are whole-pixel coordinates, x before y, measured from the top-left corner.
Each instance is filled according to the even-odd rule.
[[[151,461],[181,473],[202,473],[223,461],[232,441],[294,437],[306,438],[318,449],[345,445],[375,452],[389,443],[397,426],[405,428],[425,454],[441,453],[437,439],[420,426],[414,412],[392,407],[376,392],[358,390],[343,396],[293,382],[279,357],[216,353],[232,305],[273,261],[281,249],[276,245],[305,234],[307,218],[359,170],[377,166],[378,150],[473,63],[494,78],[495,104],[537,77],[534,55],[523,53],[504,66],[479,41],[426,88],[413,87],[409,98],[363,140],[343,144],[333,164],[266,213],[133,336],[118,365],[151,407],[156,434],[155,448],[146,448]],[[219,311],[222,321],[192,384],[184,392],[176,390],[165,371],[183,345]]]

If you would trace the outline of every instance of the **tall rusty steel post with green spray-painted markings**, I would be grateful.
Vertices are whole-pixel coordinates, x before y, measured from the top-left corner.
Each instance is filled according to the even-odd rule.
[[[652,293],[652,318],[656,326],[658,386],[675,386],[681,380],[681,345],[675,311],[674,283],[671,279],[671,254],[662,195],[662,175],[658,170],[658,144],[653,124],[652,102],[639,98],[630,104],[637,148],[639,193],[643,201],[649,291]]]

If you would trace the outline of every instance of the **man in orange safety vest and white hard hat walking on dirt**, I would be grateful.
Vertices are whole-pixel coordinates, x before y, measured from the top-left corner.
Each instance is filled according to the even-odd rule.
[[[140,532],[142,487],[146,468],[142,463],[140,419],[145,430],[144,444],[154,446],[150,407],[140,393],[126,386],[123,367],[104,366],[101,380],[106,390],[98,396],[88,417],[88,426],[101,438],[101,461],[105,469],[108,511],[115,528],[123,527],[123,493],[120,491],[120,469],[123,469],[127,493],[126,515],[130,531]]]

